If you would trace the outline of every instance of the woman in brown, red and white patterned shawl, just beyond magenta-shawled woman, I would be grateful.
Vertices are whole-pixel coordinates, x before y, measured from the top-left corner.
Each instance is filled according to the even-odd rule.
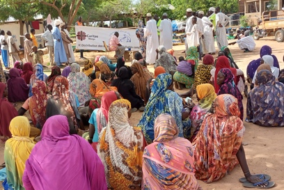
[[[73,65],[74,63],[72,63]],[[85,75],[86,76],[86,75]],[[69,83],[68,80],[63,76],[58,76],[54,80],[54,88],[52,90],[52,97],[54,100],[60,100],[63,104],[65,111],[68,111],[71,115],[72,121],[74,123],[75,129],[79,127],[79,119],[78,110],[73,109],[72,104],[74,103],[73,98],[71,98],[69,92]],[[71,102],[73,100],[73,102]]]

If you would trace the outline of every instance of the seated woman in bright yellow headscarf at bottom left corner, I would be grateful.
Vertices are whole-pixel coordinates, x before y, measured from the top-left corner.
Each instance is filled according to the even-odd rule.
[[[31,155],[34,147],[33,140],[29,137],[31,125],[28,118],[17,116],[10,122],[12,138],[5,143],[4,159],[6,163],[7,184],[10,189],[24,189],[22,176],[26,160]],[[6,189],[4,187],[4,189]]]

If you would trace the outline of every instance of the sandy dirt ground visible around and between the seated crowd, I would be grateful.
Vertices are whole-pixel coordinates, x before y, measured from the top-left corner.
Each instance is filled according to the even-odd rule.
[[[233,40],[230,40],[232,42]],[[236,45],[229,46],[230,51],[232,53],[235,62],[242,69],[246,76],[246,66],[253,59],[260,57],[260,48],[262,45],[269,45],[273,49],[273,54],[276,55],[278,61],[281,65],[281,69],[283,69],[283,45],[284,43],[279,43],[274,40],[274,38],[264,38],[258,41],[255,41],[256,47],[253,52],[244,53],[239,47]],[[215,47],[217,47],[215,45]],[[182,51],[184,50],[184,45],[174,46],[175,49],[174,56],[178,58],[178,56],[184,56]],[[217,50],[217,49],[216,49]],[[217,50],[218,51],[218,50]],[[113,53],[102,53],[102,52],[85,52],[84,56],[86,58],[94,59],[95,56],[109,56],[109,58],[113,57]],[[79,60],[79,53],[75,53],[76,60],[82,66],[84,61]],[[45,55],[45,60],[47,61],[47,55]],[[129,65],[129,62],[127,62]],[[154,71],[153,66],[149,66],[150,71]],[[47,71],[47,73],[49,73]],[[184,92],[184,90],[177,90]],[[194,102],[196,102],[196,97],[194,95]],[[246,116],[246,97],[243,100],[244,111]],[[18,104],[20,106],[20,104]],[[132,113],[132,118],[130,122],[132,125],[137,125],[141,118],[141,112]],[[29,117],[29,113],[26,113],[26,116]],[[284,189],[284,146],[281,141],[283,140],[284,129],[281,127],[260,127],[258,125],[253,125],[252,123],[244,122],[244,126],[246,127],[246,133],[244,135],[244,150],[246,151],[246,160],[248,162],[248,166],[250,168],[251,173],[266,173],[271,175],[271,180],[276,182],[276,186],[274,189]],[[0,143],[0,163],[3,163],[3,150],[4,143]],[[219,182],[213,182],[211,184],[205,184],[202,181],[198,181],[200,186],[205,190],[244,190],[248,188],[244,188],[242,183],[238,180],[240,177],[244,177],[242,173],[242,169],[240,166],[236,166],[236,168],[228,175],[223,177]]]

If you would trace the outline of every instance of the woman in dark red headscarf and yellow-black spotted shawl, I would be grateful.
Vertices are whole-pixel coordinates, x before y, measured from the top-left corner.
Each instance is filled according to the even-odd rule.
[[[200,84],[209,83],[211,74],[210,71],[213,68],[214,58],[210,54],[206,54],[203,57],[203,64],[198,65],[196,72],[194,74],[194,88]]]

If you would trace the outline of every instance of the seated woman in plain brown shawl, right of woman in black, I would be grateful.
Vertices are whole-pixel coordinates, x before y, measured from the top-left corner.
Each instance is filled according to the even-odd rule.
[[[147,72],[143,70],[142,66],[139,63],[133,63],[131,65],[131,70],[132,70],[133,76],[131,77],[130,80],[134,83],[135,92],[143,100],[145,100],[146,85],[147,85],[148,80],[151,78],[151,76],[150,74],[148,74]]]

